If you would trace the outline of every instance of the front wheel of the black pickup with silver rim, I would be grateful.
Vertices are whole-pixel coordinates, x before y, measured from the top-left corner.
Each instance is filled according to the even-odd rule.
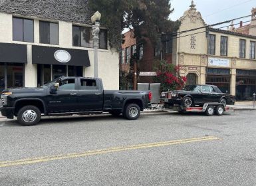
[[[22,126],[33,126],[40,121],[41,111],[36,106],[24,106],[19,110],[17,119]]]

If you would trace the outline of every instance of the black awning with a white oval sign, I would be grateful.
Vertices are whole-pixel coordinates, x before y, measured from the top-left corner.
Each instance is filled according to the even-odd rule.
[[[90,66],[88,50],[32,46],[32,63]]]

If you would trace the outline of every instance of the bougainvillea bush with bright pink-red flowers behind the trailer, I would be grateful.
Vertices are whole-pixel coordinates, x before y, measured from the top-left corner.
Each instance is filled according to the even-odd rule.
[[[160,82],[160,91],[180,90],[186,83],[186,77],[180,75],[180,66],[167,63],[166,60],[156,60],[157,72],[155,82]]]

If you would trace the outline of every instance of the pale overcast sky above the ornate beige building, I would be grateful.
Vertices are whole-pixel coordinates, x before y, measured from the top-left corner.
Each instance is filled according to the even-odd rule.
[[[182,17],[184,11],[188,10],[192,0],[170,0],[174,12],[170,15],[172,21]],[[197,11],[199,11],[207,25],[219,23],[243,17],[251,14],[251,9],[256,7],[256,0],[194,0]],[[249,21],[251,17],[235,21]],[[246,23],[247,24],[247,23]],[[227,25],[227,24],[226,24]],[[225,26],[225,25],[221,25]],[[235,26],[238,27],[239,25]]]

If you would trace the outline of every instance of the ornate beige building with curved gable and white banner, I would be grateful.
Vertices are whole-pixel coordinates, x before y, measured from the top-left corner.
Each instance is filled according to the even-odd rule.
[[[237,100],[251,100],[256,92],[256,36],[206,27],[193,1],[180,21],[172,62],[182,66],[187,84],[215,84]],[[190,31],[199,27],[204,28]]]

